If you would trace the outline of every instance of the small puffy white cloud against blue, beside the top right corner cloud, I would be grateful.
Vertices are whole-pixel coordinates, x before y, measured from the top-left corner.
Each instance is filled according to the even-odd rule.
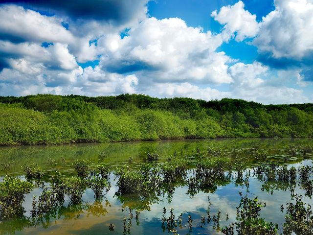
[[[219,12],[215,10],[211,13],[211,17],[224,25],[222,35],[225,41],[230,38],[243,41],[257,35],[259,24],[256,22],[256,15],[252,15],[244,7],[245,4],[240,0],[232,6],[223,6]]]

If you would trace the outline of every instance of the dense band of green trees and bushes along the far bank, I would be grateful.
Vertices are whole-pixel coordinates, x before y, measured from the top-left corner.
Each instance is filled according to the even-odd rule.
[[[313,104],[262,105],[141,94],[0,97],[0,145],[313,137]],[[310,152],[312,149],[302,149]]]

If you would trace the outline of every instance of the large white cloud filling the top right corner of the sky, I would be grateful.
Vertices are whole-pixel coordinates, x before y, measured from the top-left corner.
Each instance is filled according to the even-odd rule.
[[[275,58],[313,55],[313,1],[275,0],[276,9],[261,23],[253,44]]]

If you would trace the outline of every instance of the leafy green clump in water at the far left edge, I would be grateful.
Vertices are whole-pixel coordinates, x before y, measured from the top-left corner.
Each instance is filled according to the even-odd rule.
[[[0,220],[22,217],[25,194],[33,189],[31,182],[19,178],[5,176],[0,182]]]

